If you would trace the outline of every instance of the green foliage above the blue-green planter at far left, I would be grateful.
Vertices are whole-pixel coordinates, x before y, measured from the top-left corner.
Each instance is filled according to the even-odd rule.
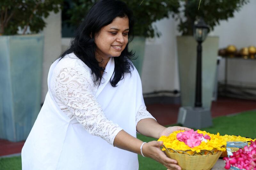
[[[32,33],[38,33],[45,27],[44,18],[50,11],[57,13],[63,0],[1,0],[0,34],[17,34],[18,26],[28,26]]]

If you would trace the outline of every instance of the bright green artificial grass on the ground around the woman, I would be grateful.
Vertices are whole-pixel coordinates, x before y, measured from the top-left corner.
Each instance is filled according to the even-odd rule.
[[[213,119],[213,126],[210,128],[203,128],[209,133],[220,135],[240,135],[243,137],[256,138],[256,111],[247,111],[241,114],[220,116]],[[177,126],[177,124],[170,125]],[[149,142],[157,140],[151,137],[145,137],[138,134],[137,137],[144,141]],[[150,158],[144,158],[138,155],[140,168],[139,170],[166,170],[166,168]],[[0,158],[0,170],[21,170],[21,157]]]

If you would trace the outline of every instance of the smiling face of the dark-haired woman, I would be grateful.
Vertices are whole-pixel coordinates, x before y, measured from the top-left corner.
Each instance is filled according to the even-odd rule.
[[[128,42],[129,19],[116,17],[112,23],[95,35],[96,52],[102,59],[120,56]]]

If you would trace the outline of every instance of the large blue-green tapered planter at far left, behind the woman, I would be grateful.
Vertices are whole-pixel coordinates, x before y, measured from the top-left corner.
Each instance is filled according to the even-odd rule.
[[[0,138],[25,140],[41,108],[43,35],[0,36]]]

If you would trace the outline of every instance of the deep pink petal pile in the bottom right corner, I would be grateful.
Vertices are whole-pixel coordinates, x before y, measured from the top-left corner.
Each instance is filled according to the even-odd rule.
[[[239,169],[256,170],[256,144],[252,142],[249,147],[244,146],[244,149],[233,152],[233,156],[230,156],[230,158],[223,159],[226,161],[225,169],[234,166]]]

